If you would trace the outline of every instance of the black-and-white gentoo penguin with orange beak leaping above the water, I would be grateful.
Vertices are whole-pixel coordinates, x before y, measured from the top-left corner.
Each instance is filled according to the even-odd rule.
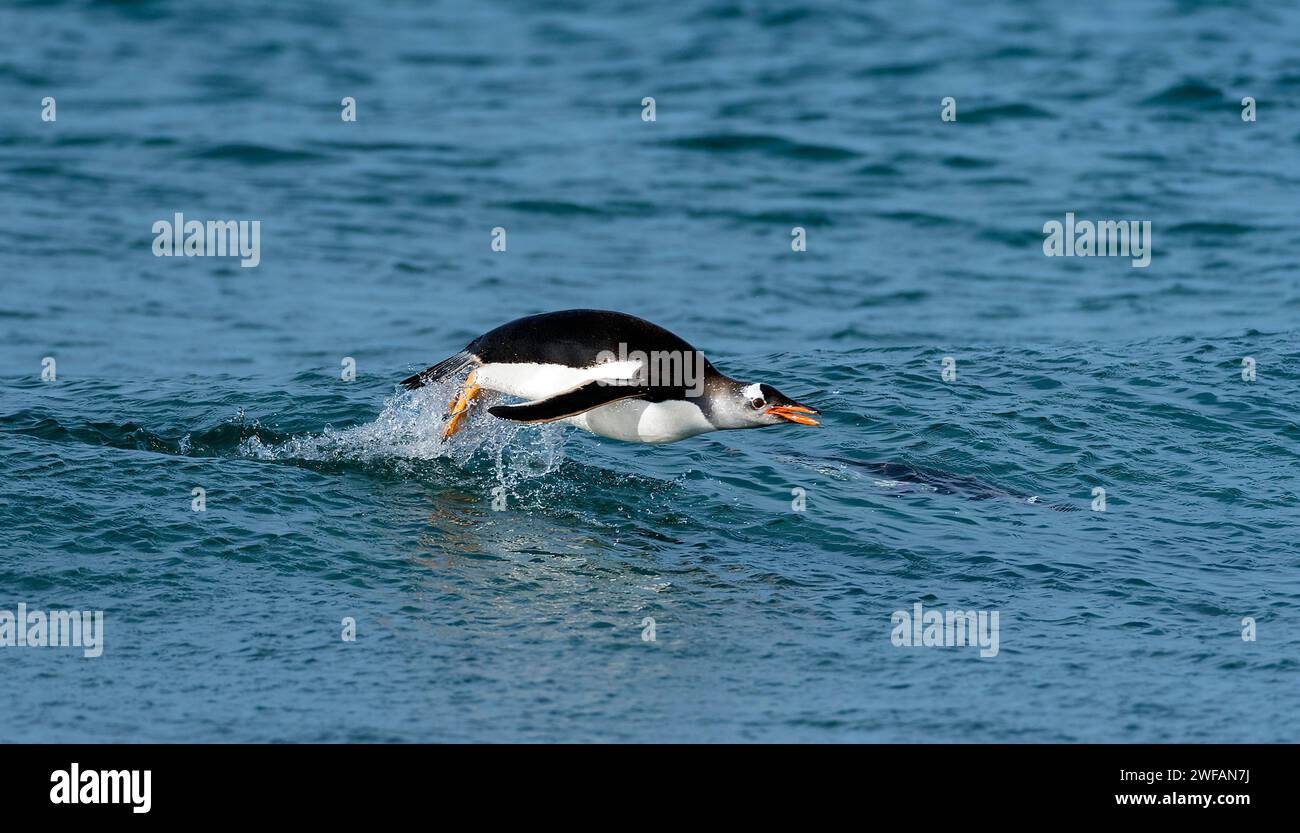
[[[818,425],[771,385],[737,382],[668,330],[604,309],[564,309],[517,318],[456,355],[403,379],[408,389],[471,370],[447,404],[443,439],[490,390],[528,402],[488,413],[516,422],[564,420],[627,442],[671,443],[706,431],[798,422]]]

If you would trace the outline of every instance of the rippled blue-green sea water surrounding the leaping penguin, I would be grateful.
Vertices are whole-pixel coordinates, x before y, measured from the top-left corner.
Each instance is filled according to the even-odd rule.
[[[1297,112],[1254,0],[5,4],[0,611],[104,643],[0,741],[1300,739]],[[824,424],[395,386],[573,307]]]

